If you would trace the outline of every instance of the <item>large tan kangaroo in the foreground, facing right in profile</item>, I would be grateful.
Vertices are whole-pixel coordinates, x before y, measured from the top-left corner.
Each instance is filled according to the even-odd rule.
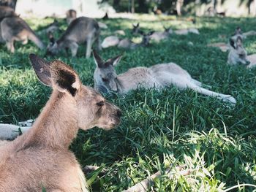
[[[69,151],[78,128],[113,128],[121,111],[61,61],[29,55],[39,80],[53,93],[29,131],[0,147],[0,191],[88,191]]]

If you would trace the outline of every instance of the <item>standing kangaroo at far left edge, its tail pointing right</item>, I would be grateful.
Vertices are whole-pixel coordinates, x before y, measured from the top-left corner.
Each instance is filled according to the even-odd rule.
[[[6,42],[7,49],[10,50],[11,53],[15,52],[15,41],[22,42],[23,45],[26,45],[29,39],[41,50],[45,47],[39,37],[37,37],[29,25],[21,18],[4,18],[1,21],[0,26],[0,39]]]

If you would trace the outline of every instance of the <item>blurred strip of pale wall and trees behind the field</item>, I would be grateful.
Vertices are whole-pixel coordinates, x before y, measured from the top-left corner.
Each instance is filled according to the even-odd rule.
[[[196,16],[255,16],[256,0],[0,0],[12,4],[22,17],[64,17],[67,9],[79,15],[101,18],[108,12],[111,17],[129,17],[130,13],[152,15]],[[122,14],[120,14],[122,13]],[[124,13],[126,15],[124,15]]]

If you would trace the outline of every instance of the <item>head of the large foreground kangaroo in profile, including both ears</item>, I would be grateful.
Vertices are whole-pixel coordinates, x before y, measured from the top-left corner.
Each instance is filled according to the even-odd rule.
[[[82,85],[70,66],[59,60],[48,62],[34,54],[29,58],[39,80],[51,86],[64,103],[72,104],[67,110],[75,110],[72,114],[77,114],[75,118],[79,128],[86,130],[98,126],[110,129],[120,123],[121,110],[93,88]]]

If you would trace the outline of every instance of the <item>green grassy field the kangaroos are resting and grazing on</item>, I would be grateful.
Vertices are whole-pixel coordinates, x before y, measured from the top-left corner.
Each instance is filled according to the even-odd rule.
[[[31,28],[40,31],[53,19],[27,21]],[[67,28],[64,20],[59,21],[62,29]],[[187,176],[174,174],[172,180],[160,177],[152,191],[225,191],[243,183],[256,185],[256,69],[227,66],[227,53],[206,47],[210,42],[227,42],[218,35],[228,37],[236,26],[243,31],[255,29],[255,18],[197,18],[195,25],[186,18],[113,19],[105,21],[108,29],[102,30],[102,39],[118,29],[132,37],[132,23],[138,21],[144,31],[162,31],[162,26],[196,27],[200,36],[171,35],[165,42],[152,43],[146,48],[102,50],[100,54],[105,59],[124,53],[116,67],[118,73],[134,66],[173,61],[195,79],[211,85],[211,90],[233,95],[237,104],[230,108],[218,99],[174,87],[159,92],[140,89],[127,96],[107,96],[124,114],[121,125],[111,131],[99,128],[80,131],[70,147],[81,166],[107,169],[100,177],[97,173],[86,175],[92,191],[122,191],[159,170],[184,164],[194,171]],[[48,42],[46,35],[40,37]],[[140,41],[140,37],[133,40]],[[245,40],[248,53],[256,53],[255,41],[256,37]],[[25,46],[16,43],[15,48],[15,54],[11,54],[5,45],[0,45],[1,123],[37,118],[51,93],[50,88],[37,80],[28,58],[29,53],[43,56],[45,51],[38,50],[31,42]],[[85,85],[93,86],[95,64],[93,58],[85,58],[85,51],[85,46],[80,46],[76,58],[60,53],[48,59],[67,62],[77,70]],[[253,190],[247,186],[233,191]]]

